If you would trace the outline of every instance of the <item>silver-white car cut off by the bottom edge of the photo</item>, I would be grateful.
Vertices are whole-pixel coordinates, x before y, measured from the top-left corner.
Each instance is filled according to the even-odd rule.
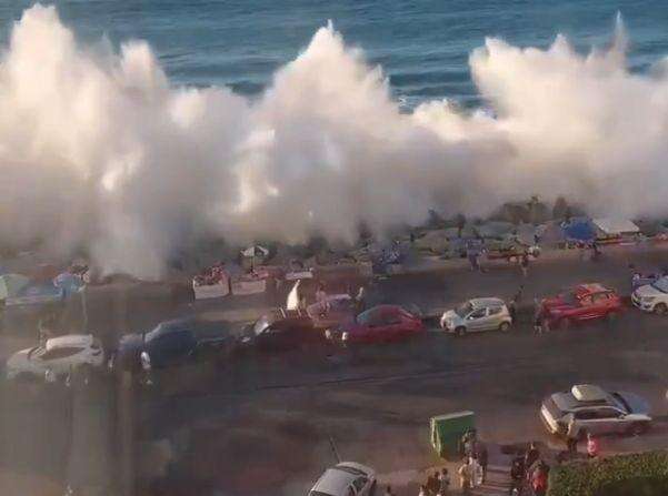
[[[341,462],[328,468],[318,479],[309,496],[372,496],[376,472],[355,462]]]

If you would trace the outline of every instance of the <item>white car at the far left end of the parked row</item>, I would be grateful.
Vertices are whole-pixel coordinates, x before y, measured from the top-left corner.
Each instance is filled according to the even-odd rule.
[[[63,377],[80,367],[100,367],[104,352],[100,342],[90,334],[70,334],[48,340],[14,353],[7,361],[7,378]]]

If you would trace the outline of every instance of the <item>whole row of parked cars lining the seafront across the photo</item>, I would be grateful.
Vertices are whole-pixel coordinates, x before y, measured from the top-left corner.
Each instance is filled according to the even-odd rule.
[[[638,279],[636,277],[636,282]],[[668,277],[654,277],[636,285],[632,304],[657,314],[668,313]],[[338,296],[338,295],[337,295]],[[387,343],[421,335],[425,324],[417,312],[399,305],[377,305],[356,315],[353,302],[335,297],[327,305],[306,311],[276,311],[240,332],[230,323],[187,317],[168,321],[153,330],[121,337],[116,350],[104,351],[92,336],[62,336],[14,354],[7,364],[9,378],[27,375],[63,375],[72,367],[110,371],[151,371],[201,358],[226,360],[249,351],[280,352],[336,344],[355,346]],[[412,308],[411,308],[412,310]],[[540,316],[550,328],[568,328],[595,320],[612,321],[625,311],[621,297],[602,284],[579,284],[541,301]],[[440,326],[447,333],[466,335],[485,331],[507,332],[514,325],[508,305],[498,297],[469,300],[446,311]]]

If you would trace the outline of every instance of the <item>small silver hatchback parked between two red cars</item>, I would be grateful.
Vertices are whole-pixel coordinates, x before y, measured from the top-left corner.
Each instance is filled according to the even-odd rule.
[[[481,331],[506,332],[512,318],[501,298],[473,298],[443,313],[440,325],[446,332],[463,335]]]

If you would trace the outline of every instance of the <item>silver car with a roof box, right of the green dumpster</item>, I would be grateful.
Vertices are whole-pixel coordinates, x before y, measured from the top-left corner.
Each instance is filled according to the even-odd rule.
[[[542,402],[540,419],[557,435],[566,435],[575,421],[578,437],[588,434],[641,434],[649,428],[649,404],[631,393],[607,392],[592,384],[579,384],[555,393]]]

